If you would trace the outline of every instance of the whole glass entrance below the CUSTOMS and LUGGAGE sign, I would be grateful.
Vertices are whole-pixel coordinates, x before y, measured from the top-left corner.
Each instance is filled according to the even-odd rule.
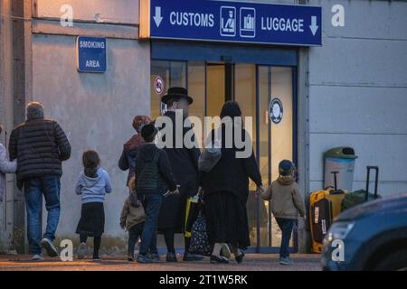
[[[183,86],[194,98],[190,116],[219,116],[229,99],[239,102],[243,117],[252,117],[254,153],[265,186],[278,177],[282,159],[296,160],[295,141],[295,69],[254,63],[209,61],[152,61],[151,115],[161,115],[160,98],[171,86]],[[163,82],[163,87],[160,87]],[[271,105],[270,105],[271,104]],[[204,144],[204,135],[196,135]],[[251,233],[251,251],[275,252],[280,231],[270,212],[270,203],[260,200],[250,182],[247,212]],[[296,236],[291,241],[296,247]],[[159,245],[165,247],[161,238]],[[183,247],[182,237],[175,241]]]

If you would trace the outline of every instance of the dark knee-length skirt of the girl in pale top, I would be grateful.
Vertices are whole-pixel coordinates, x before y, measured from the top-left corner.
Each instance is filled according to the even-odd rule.
[[[76,233],[87,237],[100,237],[105,229],[105,210],[102,202],[82,204]]]

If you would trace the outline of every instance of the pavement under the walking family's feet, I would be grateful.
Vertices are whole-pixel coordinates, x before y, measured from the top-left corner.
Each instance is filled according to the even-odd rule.
[[[226,265],[213,265],[209,258],[199,262],[183,262],[178,256],[177,263],[166,263],[165,256],[156,264],[128,262],[125,256],[102,256],[101,262],[91,259],[62,262],[59,258],[45,257],[33,262],[28,255],[0,255],[0,271],[320,271],[319,255],[294,254],[291,266],[280,266],[275,254],[247,254],[243,263],[234,260]]]

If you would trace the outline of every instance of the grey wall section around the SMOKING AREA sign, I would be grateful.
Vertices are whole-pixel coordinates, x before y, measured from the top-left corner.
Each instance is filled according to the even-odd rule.
[[[128,195],[127,172],[119,171],[118,158],[123,144],[134,134],[133,117],[150,113],[149,44],[138,42],[137,31],[128,33],[128,26],[134,26],[138,19],[133,17],[138,14],[138,1],[115,1],[114,9],[99,5],[109,1],[92,1],[91,5],[71,1],[74,18],[80,17],[85,23],[64,29],[57,19],[50,20],[59,17],[60,4],[53,5],[58,1],[52,1],[50,6],[43,6],[43,2],[49,1],[37,1],[38,15],[51,18],[33,24],[33,99],[43,103],[46,117],[61,124],[72,146],[71,159],[63,163],[62,216],[57,236],[78,241],[75,229],[81,202],[74,193],[74,184],[82,170],[81,154],[91,148],[99,152],[101,165],[113,184],[113,192],[105,202],[106,238],[102,247],[124,249],[126,234],[119,228],[118,219]],[[92,23],[92,14],[96,13],[118,19],[120,24]],[[77,72],[75,39],[85,31],[109,37],[106,73]]]

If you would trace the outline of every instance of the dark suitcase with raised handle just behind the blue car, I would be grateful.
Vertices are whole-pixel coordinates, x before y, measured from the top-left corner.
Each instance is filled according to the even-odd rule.
[[[342,200],[341,211],[344,211],[349,208],[355,207],[357,205],[363,204],[366,201],[375,200],[377,198],[380,198],[380,196],[377,193],[377,186],[378,186],[378,182],[379,182],[379,167],[367,166],[366,169],[367,169],[366,189],[348,193],[345,196],[344,200]],[[369,192],[370,173],[372,170],[375,171],[374,193]]]

